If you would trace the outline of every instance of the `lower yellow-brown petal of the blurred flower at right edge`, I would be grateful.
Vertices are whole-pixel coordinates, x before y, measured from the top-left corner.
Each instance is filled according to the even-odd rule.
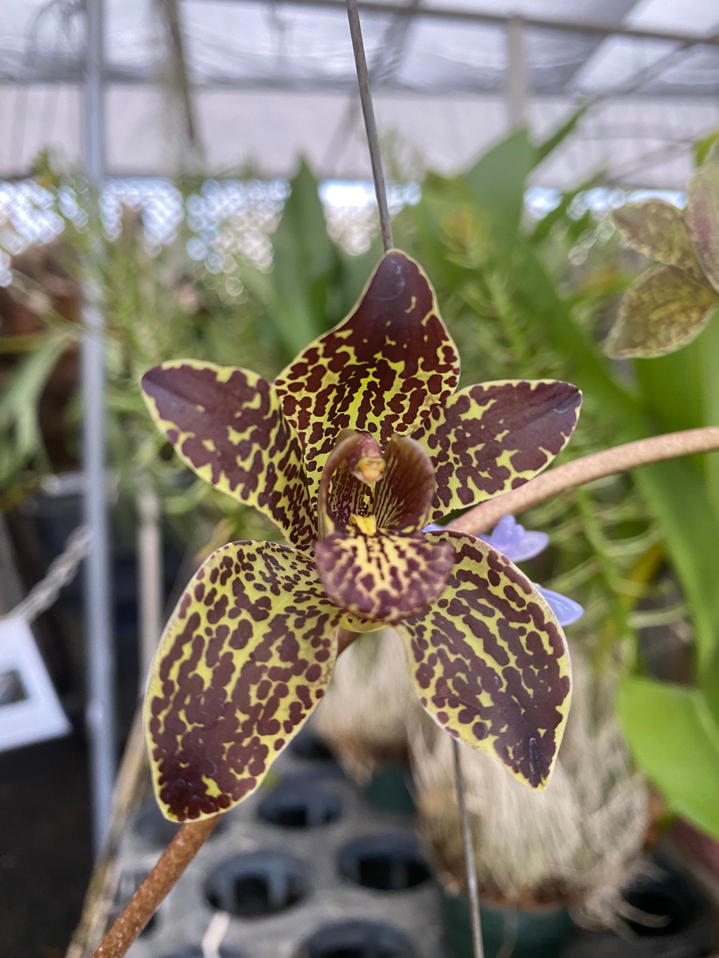
[[[655,266],[624,294],[604,352],[616,358],[674,353],[699,335],[717,307],[711,286],[675,266]]]

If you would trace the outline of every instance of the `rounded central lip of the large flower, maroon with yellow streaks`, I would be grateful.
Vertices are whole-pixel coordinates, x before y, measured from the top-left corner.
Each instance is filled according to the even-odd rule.
[[[427,536],[333,533],[314,545],[327,594],[360,618],[390,625],[442,594],[454,552]]]

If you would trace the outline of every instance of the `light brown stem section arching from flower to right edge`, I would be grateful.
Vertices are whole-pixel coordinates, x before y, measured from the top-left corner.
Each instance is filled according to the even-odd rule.
[[[676,459],[679,456],[695,455],[698,452],[712,452],[719,449],[719,426],[706,426],[703,429],[685,429],[683,432],[669,432],[663,436],[640,439],[636,443],[615,445],[614,448],[595,452],[591,456],[575,459],[564,466],[545,472],[530,480],[519,489],[504,492],[496,499],[482,502],[469,513],[465,513],[450,523],[454,532],[479,536],[491,529],[502,515],[517,515],[545,499],[584,486],[595,479],[624,472],[639,466],[658,463],[662,459]]]

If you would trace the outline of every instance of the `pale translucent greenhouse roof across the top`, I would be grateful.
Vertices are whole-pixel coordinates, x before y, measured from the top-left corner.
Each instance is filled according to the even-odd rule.
[[[587,115],[537,181],[679,189],[719,125],[715,0],[359,4],[390,171],[458,171],[509,125]],[[107,171],[369,175],[342,0],[105,0]],[[84,12],[15,0],[0,36],[0,176],[81,160]]]

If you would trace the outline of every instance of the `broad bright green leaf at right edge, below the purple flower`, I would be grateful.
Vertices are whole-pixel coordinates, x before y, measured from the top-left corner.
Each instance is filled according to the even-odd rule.
[[[702,693],[628,677],[617,709],[642,771],[673,810],[719,839],[719,726]]]

